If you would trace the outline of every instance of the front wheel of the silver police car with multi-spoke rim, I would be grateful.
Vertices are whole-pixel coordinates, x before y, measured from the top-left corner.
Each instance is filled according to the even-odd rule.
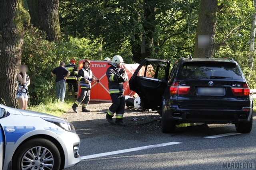
[[[20,145],[12,159],[12,169],[59,170],[61,164],[58,148],[47,139],[32,139]]]

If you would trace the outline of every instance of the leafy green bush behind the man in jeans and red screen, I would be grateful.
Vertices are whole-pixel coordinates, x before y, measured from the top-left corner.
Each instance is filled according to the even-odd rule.
[[[55,80],[50,72],[60,61],[69,63],[73,57],[102,60],[96,55],[98,44],[85,38],[71,38],[68,43],[54,43],[45,40],[46,35],[34,27],[26,31],[22,51],[22,64],[28,65],[30,104],[47,103],[56,100]]]

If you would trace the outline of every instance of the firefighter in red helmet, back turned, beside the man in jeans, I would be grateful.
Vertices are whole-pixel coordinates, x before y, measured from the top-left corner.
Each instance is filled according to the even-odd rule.
[[[68,71],[70,71],[70,75],[68,76],[66,82],[68,83],[68,91],[69,95],[72,96],[72,86],[74,88],[75,92],[75,98],[77,99],[78,94],[78,83],[77,83],[77,74],[78,74],[78,68],[76,66],[76,59],[71,59],[69,64],[66,66]]]

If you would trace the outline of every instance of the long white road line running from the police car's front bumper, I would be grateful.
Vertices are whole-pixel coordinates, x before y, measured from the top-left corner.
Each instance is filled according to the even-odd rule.
[[[161,144],[157,144],[157,145],[148,145],[148,146],[145,146],[145,147],[116,150],[116,151],[113,151],[113,152],[106,152],[106,153],[100,153],[100,154],[92,154],[92,155],[87,155],[87,156],[81,156],[81,160],[91,159],[91,158],[98,158],[98,157],[102,157],[102,156],[109,156],[109,155],[113,155],[113,154],[121,154],[121,153],[126,153],[126,152],[133,152],[133,151],[144,150],[144,149],[165,147],[165,146],[175,145],[175,144],[180,144],[180,142],[161,143]]]

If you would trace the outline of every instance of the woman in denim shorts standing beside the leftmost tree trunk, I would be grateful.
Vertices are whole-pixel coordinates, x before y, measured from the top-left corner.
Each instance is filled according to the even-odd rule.
[[[30,79],[27,72],[27,66],[20,66],[20,74],[17,76],[18,90],[16,92],[16,99],[18,100],[20,109],[27,109],[28,105],[28,86],[30,85]]]

